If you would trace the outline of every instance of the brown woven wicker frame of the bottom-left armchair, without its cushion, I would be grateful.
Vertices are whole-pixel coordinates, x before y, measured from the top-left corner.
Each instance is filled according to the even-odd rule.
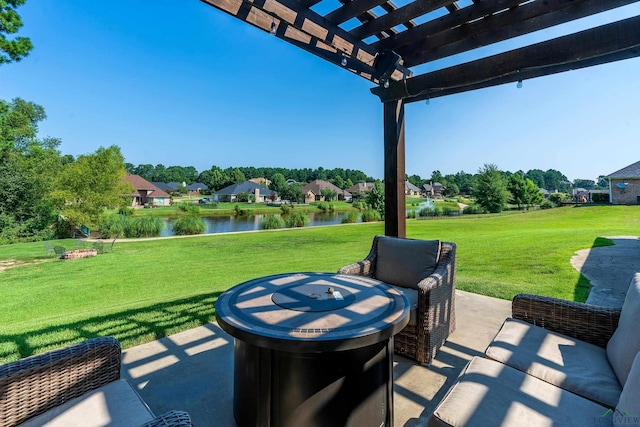
[[[112,337],[0,365],[0,427],[15,426],[120,379],[120,343]],[[145,426],[191,426],[171,411]]]

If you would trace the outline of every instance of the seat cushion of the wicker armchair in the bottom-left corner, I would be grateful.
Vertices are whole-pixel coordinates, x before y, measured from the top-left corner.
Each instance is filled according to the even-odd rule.
[[[92,427],[139,426],[153,413],[125,379],[114,381],[70,400],[20,426]]]

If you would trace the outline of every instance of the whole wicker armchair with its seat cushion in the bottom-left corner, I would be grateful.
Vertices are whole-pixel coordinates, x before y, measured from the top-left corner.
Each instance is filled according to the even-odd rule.
[[[1,365],[0,427],[192,425],[186,412],[154,416],[120,363],[120,343],[100,337]]]

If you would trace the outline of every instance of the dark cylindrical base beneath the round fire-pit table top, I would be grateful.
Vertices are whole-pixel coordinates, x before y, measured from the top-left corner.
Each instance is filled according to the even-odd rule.
[[[292,353],[235,340],[240,427],[393,426],[393,337],[346,351]]]

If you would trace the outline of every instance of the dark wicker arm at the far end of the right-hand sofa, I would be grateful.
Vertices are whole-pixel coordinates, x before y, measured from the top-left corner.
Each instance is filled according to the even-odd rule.
[[[600,347],[606,347],[618,327],[620,311],[620,308],[529,294],[516,295],[512,302],[515,319]]]

